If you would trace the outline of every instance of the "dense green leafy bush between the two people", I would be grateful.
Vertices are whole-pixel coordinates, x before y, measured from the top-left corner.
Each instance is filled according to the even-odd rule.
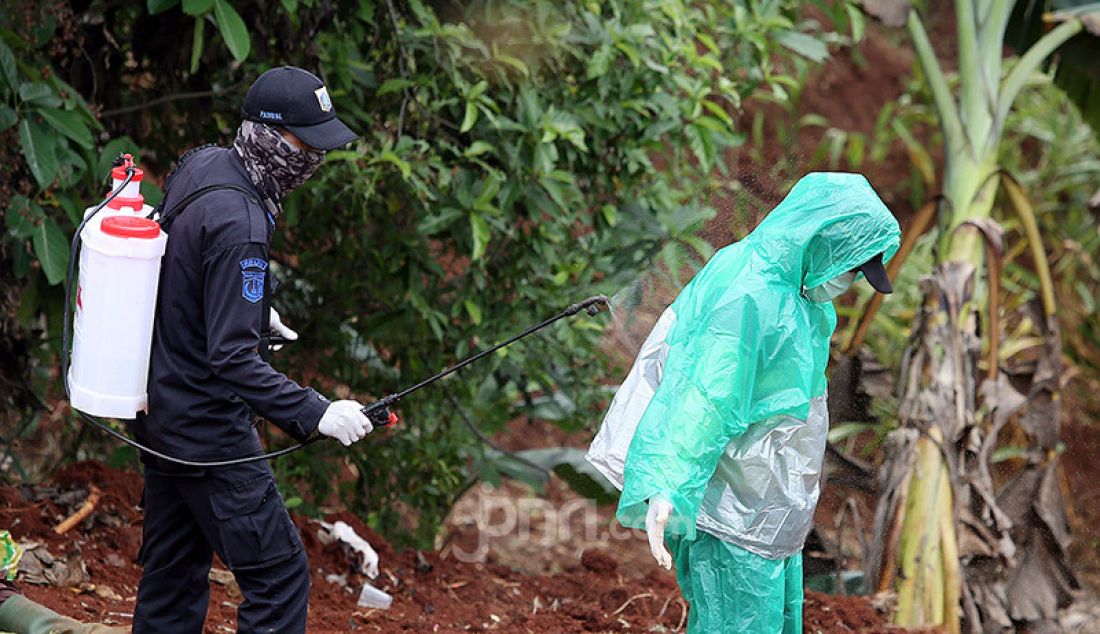
[[[330,155],[285,220],[297,260],[287,300],[323,338],[314,345],[338,351],[324,374],[356,394],[394,392],[614,292],[711,217],[701,203],[712,173],[741,140],[729,111],[758,86],[793,84],[771,54],[795,25],[777,4],[757,11],[524,1],[446,13],[414,1],[320,37],[338,107],[367,131]],[[385,74],[377,48],[348,45],[380,29],[397,33],[381,52],[396,57]],[[340,214],[307,203],[319,199]],[[354,275],[332,274],[349,265]],[[552,396],[560,425],[598,419],[601,332],[578,318],[410,396],[400,431],[351,450],[362,510],[392,524],[416,509],[426,540],[468,483],[465,466],[496,469],[461,417],[493,433],[544,415],[535,403]]]

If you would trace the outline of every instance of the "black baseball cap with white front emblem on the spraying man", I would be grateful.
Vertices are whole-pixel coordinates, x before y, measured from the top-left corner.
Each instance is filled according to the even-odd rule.
[[[282,125],[318,150],[334,150],[359,138],[337,119],[324,83],[296,66],[279,66],[261,75],[244,96],[241,116]]]

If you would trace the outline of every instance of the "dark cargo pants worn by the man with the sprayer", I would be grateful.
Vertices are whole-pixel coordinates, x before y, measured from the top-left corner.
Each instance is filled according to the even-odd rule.
[[[189,469],[145,457],[143,566],[133,633],[198,634],[212,554],[244,597],[238,631],[306,631],[309,565],[266,462]]]

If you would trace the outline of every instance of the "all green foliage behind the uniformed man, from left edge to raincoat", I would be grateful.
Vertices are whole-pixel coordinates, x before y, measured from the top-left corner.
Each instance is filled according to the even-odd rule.
[[[18,129],[21,149],[4,240],[21,280],[36,280],[20,283],[37,302],[21,314],[57,321],[62,298],[50,284],[64,264],[58,247],[102,194],[94,185],[114,154],[140,146],[143,166],[163,173],[188,145],[231,138],[255,76],[298,64],[322,75],[363,140],[329,153],[286,201],[275,303],[302,342],[276,364],[330,395],[396,392],[584,296],[627,285],[654,261],[675,275],[685,260],[708,256],[696,232],[714,215],[725,152],[744,140],[735,125],[741,101],[787,99],[804,66],[798,55],[820,59],[839,41],[799,20],[799,6],[96,4],[96,20],[66,23],[101,24],[109,35],[96,44],[99,31],[84,32],[90,56],[106,62],[95,81],[79,83],[103,108],[102,135],[75,90],[36,70],[52,55],[68,59],[64,51],[43,48],[50,36],[23,40],[0,14],[9,87],[0,123]],[[850,17],[846,6],[829,10]],[[224,47],[205,47],[207,22]],[[187,40],[189,50],[178,46]],[[108,135],[114,140],[99,146]],[[52,304],[45,288],[58,295]],[[486,450],[486,435],[525,416],[566,430],[598,420],[608,365],[602,332],[601,317],[561,323],[408,397],[395,430],[346,451],[324,444],[278,460],[286,498],[309,512],[341,482],[336,492],[372,524],[430,545],[476,478],[515,476],[506,462],[517,459]],[[41,367],[52,362],[44,357]],[[587,485],[575,466],[561,470]]]

